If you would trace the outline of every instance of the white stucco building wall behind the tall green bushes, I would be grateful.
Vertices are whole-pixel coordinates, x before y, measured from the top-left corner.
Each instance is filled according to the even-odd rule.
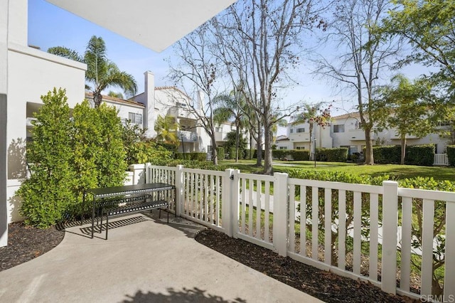
[[[53,87],[66,90],[68,105],[84,100],[86,65],[9,43],[8,110],[6,146],[9,151],[7,207],[8,222],[20,220],[19,200],[14,193],[25,177],[25,140],[27,102],[42,104],[41,95]],[[12,154],[11,154],[12,153]]]

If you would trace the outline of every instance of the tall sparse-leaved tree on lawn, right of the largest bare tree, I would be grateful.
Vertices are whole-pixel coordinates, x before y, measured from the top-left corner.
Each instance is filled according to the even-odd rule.
[[[387,39],[378,30],[392,6],[388,0],[338,0],[332,7],[325,42],[336,44],[331,58],[326,55],[316,60],[316,73],[355,94],[365,132],[365,164],[374,164],[374,92],[401,46],[399,39]]]

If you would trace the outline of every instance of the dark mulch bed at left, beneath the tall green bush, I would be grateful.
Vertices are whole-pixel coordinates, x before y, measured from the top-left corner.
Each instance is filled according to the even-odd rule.
[[[23,223],[8,226],[8,245],[0,248],[0,272],[32,260],[55,248],[65,232],[56,228],[39,229]]]

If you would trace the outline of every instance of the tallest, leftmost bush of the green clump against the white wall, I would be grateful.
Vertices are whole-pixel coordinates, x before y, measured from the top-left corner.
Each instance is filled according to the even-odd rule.
[[[77,176],[71,167],[73,125],[65,90],[54,89],[41,100],[38,122],[33,122],[33,144],[27,147],[31,178],[23,181],[17,194],[26,224],[47,228],[63,220],[65,211],[75,205]]]

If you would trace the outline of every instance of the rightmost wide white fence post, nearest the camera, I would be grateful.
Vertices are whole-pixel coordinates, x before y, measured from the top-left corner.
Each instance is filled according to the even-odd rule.
[[[395,294],[397,291],[397,224],[398,184],[383,181],[382,188],[382,270],[381,289]]]

